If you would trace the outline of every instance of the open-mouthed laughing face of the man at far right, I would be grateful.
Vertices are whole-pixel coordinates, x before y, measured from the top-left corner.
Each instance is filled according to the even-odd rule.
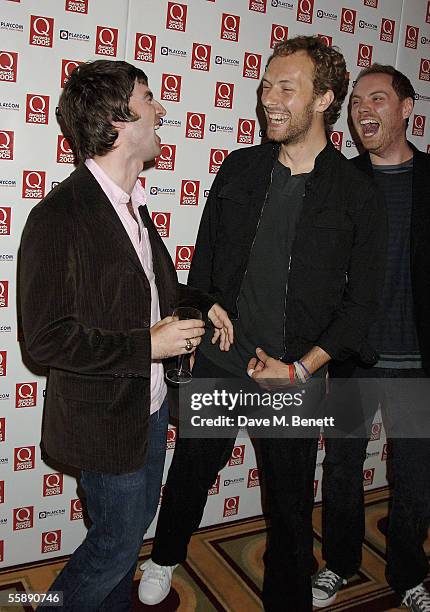
[[[405,142],[405,120],[412,108],[411,98],[399,99],[390,74],[361,77],[351,97],[351,118],[363,147],[378,157],[389,157]]]

